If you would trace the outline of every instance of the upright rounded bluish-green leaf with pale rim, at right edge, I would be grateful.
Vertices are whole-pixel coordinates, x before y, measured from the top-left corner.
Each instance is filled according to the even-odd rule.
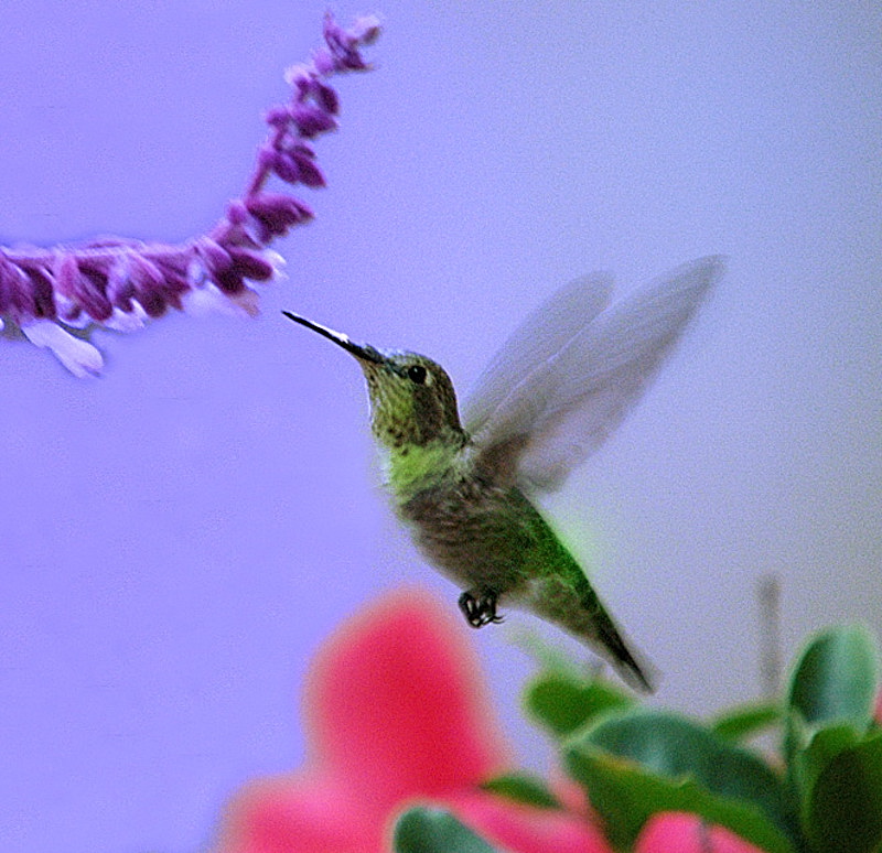
[[[865,731],[876,687],[876,646],[862,625],[818,634],[799,658],[787,704],[809,725],[848,722]]]

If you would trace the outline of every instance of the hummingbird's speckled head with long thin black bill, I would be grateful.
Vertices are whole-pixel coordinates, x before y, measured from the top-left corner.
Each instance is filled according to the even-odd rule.
[[[406,452],[434,440],[465,441],[453,382],[437,361],[418,353],[355,344],[340,332],[282,313],[355,356],[367,380],[370,425],[380,444]]]

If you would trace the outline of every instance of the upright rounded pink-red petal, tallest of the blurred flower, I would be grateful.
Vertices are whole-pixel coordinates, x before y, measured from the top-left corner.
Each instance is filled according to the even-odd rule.
[[[510,766],[453,608],[387,595],[340,630],[308,687],[313,749],[377,812],[477,785]]]

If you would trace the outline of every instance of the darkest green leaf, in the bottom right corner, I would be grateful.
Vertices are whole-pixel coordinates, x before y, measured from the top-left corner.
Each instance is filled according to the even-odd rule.
[[[820,853],[882,849],[882,733],[840,749],[818,773],[805,811]]]

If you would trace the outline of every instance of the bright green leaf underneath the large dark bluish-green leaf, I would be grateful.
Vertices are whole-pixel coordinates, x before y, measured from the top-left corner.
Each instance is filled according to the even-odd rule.
[[[756,806],[711,793],[693,779],[670,779],[587,744],[568,749],[564,760],[614,845],[630,849],[657,812],[687,811],[767,853],[794,853],[789,839]]]

